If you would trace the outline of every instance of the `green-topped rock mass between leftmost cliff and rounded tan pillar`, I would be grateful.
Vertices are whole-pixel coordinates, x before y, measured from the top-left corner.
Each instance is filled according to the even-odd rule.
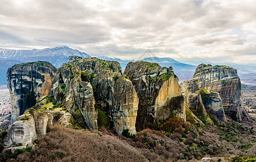
[[[113,78],[120,74],[118,62],[97,58],[76,59],[59,69],[54,78],[52,95],[78,118],[76,122],[97,130],[97,109],[110,116],[113,107]]]

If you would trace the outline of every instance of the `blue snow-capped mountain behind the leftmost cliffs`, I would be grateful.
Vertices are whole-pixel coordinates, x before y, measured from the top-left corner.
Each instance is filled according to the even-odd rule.
[[[41,50],[10,50],[0,48],[0,85],[7,84],[7,69],[15,64],[43,60],[59,68],[63,63],[68,62],[68,56],[91,57],[84,52],[71,49],[66,45]]]

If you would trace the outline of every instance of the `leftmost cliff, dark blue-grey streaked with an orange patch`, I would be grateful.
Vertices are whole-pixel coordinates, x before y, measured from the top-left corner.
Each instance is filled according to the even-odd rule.
[[[52,64],[41,61],[17,64],[8,69],[12,123],[25,110],[34,106],[38,98],[49,95],[56,71]]]

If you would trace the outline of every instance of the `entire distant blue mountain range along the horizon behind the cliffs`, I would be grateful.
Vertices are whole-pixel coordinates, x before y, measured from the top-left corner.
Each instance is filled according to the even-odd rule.
[[[80,52],[75,49],[71,49],[68,46],[61,45],[55,48],[46,49],[34,49],[34,50],[10,50],[0,48],[0,85],[6,85],[6,72],[7,69],[15,64],[35,62],[37,60],[43,60],[52,63],[56,68],[59,68],[63,63],[68,62],[69,56],[80,56],[82,58],[90,58],[87,53]],[[175,74],[178,76],[180,82],[182,80],[190,80],[193,78],[193,74],[196,69],[196,65],[184,64],[178,62],[177,60],[169,57],[159,58],[159,57],[147,57],[139,60],[122,60],[119,58],[111,58],[107,56],[99,56],[98,58],[104,60],[115,60],[120,63],[122,70],[125,70],[126,65],[129,62],[145,61],[151,63],[158,63],[162,67],[172,66]],[[216,65],[211,63],[212,65]],[[242,83],[247,85],[254,85],[255,81],[255,66],[240,65],[234,63],[224,63],[223,65],[232,66],[238,70],[239,76],[241,76]],[[246,73],[246,75],[243,75]],[[245,78],[243,78],[245,76]],[[247,80],[252,80],[247,82]],[[255,83],[254,83],[255,82]]]

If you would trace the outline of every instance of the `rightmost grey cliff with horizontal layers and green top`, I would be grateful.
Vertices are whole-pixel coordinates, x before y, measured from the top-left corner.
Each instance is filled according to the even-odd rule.
[[[220,93],[225,114],[241,122],[247,117],[242,104],[242,86],[238,73],[229,66],[201,64],[196,68],[193,79],[208,92]]]

